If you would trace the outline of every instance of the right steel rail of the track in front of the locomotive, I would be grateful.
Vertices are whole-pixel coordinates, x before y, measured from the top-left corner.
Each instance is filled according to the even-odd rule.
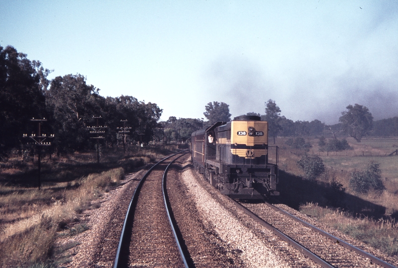
[[[355,246],[353,246],[351,244],[348,244],[347,242],[344,242],[343,240],[338,239],[335,236],[332,236],[330,233],[327,233],[324,230],[321,230],[321,229],[315,227],[314,225],[312,225],[312,224],[310,224],[308,222],[305,222],[304,220],[302,220],[302,219],[290,214],[289,212],[286,212],[285,210],[283,210],[283,209],[281,209],[281,208],[279,208],[277,206],[274,206],[271,203],[265,202],[265,204],[267,206],[269,206],[270,208],[272,208],[272,209],[274,209],[274,210],[276,210],[276,211],[278,211],[278,212],[290,217],[291,219],[303,224],[304,226],[306,226],[306,227],[308,227],[308,228],[310,228],[310,229],[322,234],[323,236],[331,239],[334,243],[336,243],[338,245],[341,245],[344,248],[347,248],[349,250],[352,250],[352,251],[356,252],[357,254],[362,255],[362,256],[364,256],[366,258],[369,258],[372,262],[374,262],[377,265],[380,265],[380,266],[386,267],[386,268],[396,268],[395,266],[393,266],[393,265],[391,265],[391,264],[389,264],[389,263],[387,263],[387,262],[385,262],[385,261],[383,261],[383,260],[381,260],[381,259],[379,259],[379,258],[367,253],[366,251],[363,251],[363,250],[361,250],[361,249],[359,249],[359,248],[357,248],[357,247],[355,247]]]

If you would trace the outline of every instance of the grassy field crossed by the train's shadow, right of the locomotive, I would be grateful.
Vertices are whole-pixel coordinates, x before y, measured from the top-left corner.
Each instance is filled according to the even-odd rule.
[[[351,150],[321,151],[319,139],[305,138],[312,144],[308,154],[319,155],[326,171],[316,181],[303,179],[297,161],[304,151],[286,145],[278,138],[280,191],[282,200],[303,213],[379,248],[390,256],[398,256],[398,138],[364,138],[360,143],[347,138]],[[349,185],[351,172],[364,170],[370,162],[380,163],[383,192],[358,194]],[[332,188],[332,181],[345,191]]]

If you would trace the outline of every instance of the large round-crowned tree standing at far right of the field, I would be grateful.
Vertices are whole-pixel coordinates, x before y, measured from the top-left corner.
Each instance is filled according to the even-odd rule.
[[[348,105],[348,111],[341,112],[342,116],[338,119],[350,137],[361,142],[361,138],[372,130],[373,116],[365,106],[355,104]]]

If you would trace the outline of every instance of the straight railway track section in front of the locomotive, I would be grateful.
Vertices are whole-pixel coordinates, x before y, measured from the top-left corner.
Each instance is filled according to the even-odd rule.
[[[268,202],[233,202],[321,267],[395,267]]]

